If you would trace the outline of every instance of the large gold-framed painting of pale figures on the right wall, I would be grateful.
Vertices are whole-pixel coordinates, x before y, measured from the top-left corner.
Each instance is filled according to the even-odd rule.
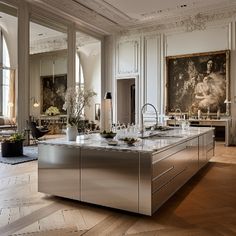
[[[229,100],[229,50],[171,56],[167,65],[167,112],[226,112]]]

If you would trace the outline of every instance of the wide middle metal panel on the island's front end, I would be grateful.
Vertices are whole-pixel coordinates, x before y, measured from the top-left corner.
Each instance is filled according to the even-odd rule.
[[[81,148],[81,200],[138,212],[139,154]]]

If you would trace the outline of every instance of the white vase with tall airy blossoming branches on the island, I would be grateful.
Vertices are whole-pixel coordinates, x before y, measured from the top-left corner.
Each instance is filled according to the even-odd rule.
[[[65,96],[65,103],[63,110],[67,111],[67,139],[75,141],[78,133],[84,131],[82,125],[84,124],[84,108],[90,106],[91,99],[97,95],[93,90],[83,89],[81,87],[68,88]],[[73,129],[69,129],[74,127]],[[73,131],[72,131],[73,130]],[[76,135],[75,131],[76,130]],[[72,134],[70,133],[72,132]],[[72,140],[72,138],[74,140]]]

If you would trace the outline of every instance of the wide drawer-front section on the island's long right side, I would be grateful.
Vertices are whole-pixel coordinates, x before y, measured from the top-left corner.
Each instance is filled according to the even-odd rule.
[[[198,137],[158,153],[152,182],[152,213],[198,170]]]

